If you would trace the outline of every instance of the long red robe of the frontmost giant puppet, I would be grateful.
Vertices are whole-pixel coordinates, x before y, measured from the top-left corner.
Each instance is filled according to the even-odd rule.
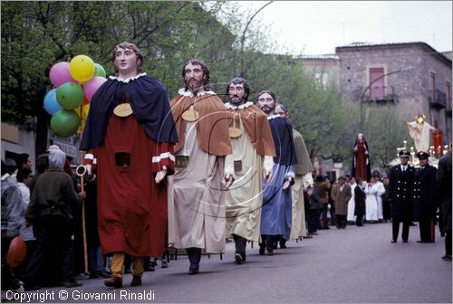
[[[167,102],[159,110],[169,110],[169,100],[158,101]],[[154,101],[148,99],[144,102]],[[81,148],[95,146],[88,149],[85,163],[92,164],[97,175],[102,253],[125,252],[134,257],[158,257],[168,242],[167,182],[162,180],[156,184],[154,178],[162,166],[168,167],[169,174],[174,172],[175,137],[159,138],[156,135],[158,139],[166,140],[150,138],[144,124],[140,124],[135,115],[139,109],[137,102],[130,102],[130,105],[134,114],[127,117],[111,114],[108,117],[101,144],[87,144],[89,138],[85,142],[82,140]]]

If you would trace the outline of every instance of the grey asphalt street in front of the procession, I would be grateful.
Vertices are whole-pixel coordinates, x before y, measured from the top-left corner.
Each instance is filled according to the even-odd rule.
[[[438,227],[436,227],[438,229]],[[188,275],[187,256],[169,268],[145,272],[143,285],[112,290],[102,279],[81,280],[77,289],[26,292],[33,303],[451,303],[451,261],[443,261],[444,238],[390,242],[391,223],[319,231],[313,239],[287,243],[274,256],[247,244],[247,261],[234,263],[234,242],[219,255],[203,256],[198,275]],[[5,295],[4,295],[5,296]],[[64,299],[66,298],[67,299]]]

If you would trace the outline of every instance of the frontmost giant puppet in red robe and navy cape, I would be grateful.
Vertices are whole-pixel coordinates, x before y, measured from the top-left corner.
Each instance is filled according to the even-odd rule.
[[[92,97],[81,150],[88,174],[98,178],[99,234],[112,253],[108,287],[122,287],[125,253],[134,257],[131,286],[141,285],[143,257],[167,246],[167,183],[178,141],[165,87],[140,73],[143,57],[133,43],[113,51],[117,75]],[[173,131],[173,132],[172,132]]]

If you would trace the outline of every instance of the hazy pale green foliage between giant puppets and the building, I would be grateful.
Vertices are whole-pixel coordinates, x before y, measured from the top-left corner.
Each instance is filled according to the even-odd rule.
[[[349,104],[341,103],[337,91],[318,85],[292,56],[255,53],[249,54],[248,62],[253,62],[247,64],[245,75],[252,85],[252,99],[261,90],[273,90],[302,133],[310,157],[346,157],[339,148],[344,141],[338,138],[351,121],[346,117]]]

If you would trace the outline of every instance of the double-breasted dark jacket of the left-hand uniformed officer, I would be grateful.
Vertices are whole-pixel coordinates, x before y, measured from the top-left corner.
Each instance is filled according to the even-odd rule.
[[[412,185],[414,182],[415,169],[407,166],[406,171],[401,171],[401,166],[392,166],[389,175],[389,199],[391,204],[391,216],[412,218]]]

